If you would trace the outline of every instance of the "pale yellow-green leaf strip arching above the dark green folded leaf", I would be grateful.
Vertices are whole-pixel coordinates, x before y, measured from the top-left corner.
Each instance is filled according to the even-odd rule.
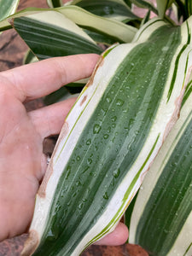
[[[93,32],[100,32],[105,37],[108,36],[108,38],[115,40],[115,42],[129,43],[134,38],[137,32],[137,28],[133,26],[125,25],[119,20],[112,20],[105,17],[93,15],[90,12],[79,8],[78,6],[66,6],[56,9],[24,9],[16,13],[15,15],[9,16],[9,19],[0,21],[0,31],[11,27],[8,20],[15,20],[16,18],[19,19],[20,17],[29,17],[29,15],[34,15],[38,13],[40,14],[43,12],[47,13],[46,15],[49,19],[49,12],[53,11],[60,12],[62,15],[65,15],[69,20],[72,20],[77,25],[89,28],[89,30]]]

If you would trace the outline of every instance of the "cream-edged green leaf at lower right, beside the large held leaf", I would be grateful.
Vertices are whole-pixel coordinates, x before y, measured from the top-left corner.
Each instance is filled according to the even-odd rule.
[[[154,160],[131,215],[129,241],[152,255],[192,255],[191,90],[190,84],[181,116]]]

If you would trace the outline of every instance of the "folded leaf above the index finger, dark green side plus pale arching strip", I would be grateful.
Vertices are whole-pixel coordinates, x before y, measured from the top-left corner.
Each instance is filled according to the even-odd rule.
[[[77,6],[25,9],[10,16],[9,21],[39,59],[79,53],[101,54],[102,49],[96,43],[131,42],[137,32],[135,27],[92,15]],[[8,21],[0,22],[0,30],[6,28],[4,22]],[[79,26],[87,29],[83,31]]]

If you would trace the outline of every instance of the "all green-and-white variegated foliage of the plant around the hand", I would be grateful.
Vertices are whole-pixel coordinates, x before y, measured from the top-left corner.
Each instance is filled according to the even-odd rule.
[[[192,2],[47,0],[48,9],[15,13],[18,3],[0,0],[0,32],[20,34],[25,63],[101,55],[91,86],[76,81],[44,99],[80,93],[50,162],[48,196],[37,195],[34,255],[79,255],[108,234],[149,168],[125,214],[130,241],[151,255],[192,255]]]

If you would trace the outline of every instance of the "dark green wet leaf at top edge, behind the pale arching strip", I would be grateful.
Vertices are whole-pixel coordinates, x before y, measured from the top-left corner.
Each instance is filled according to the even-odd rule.
[[[131,9],[123,0],[73,0],[70,4],[79,6],[94,15],[113,18],[116,20],[137,20],[139,17],[131,12]]]

